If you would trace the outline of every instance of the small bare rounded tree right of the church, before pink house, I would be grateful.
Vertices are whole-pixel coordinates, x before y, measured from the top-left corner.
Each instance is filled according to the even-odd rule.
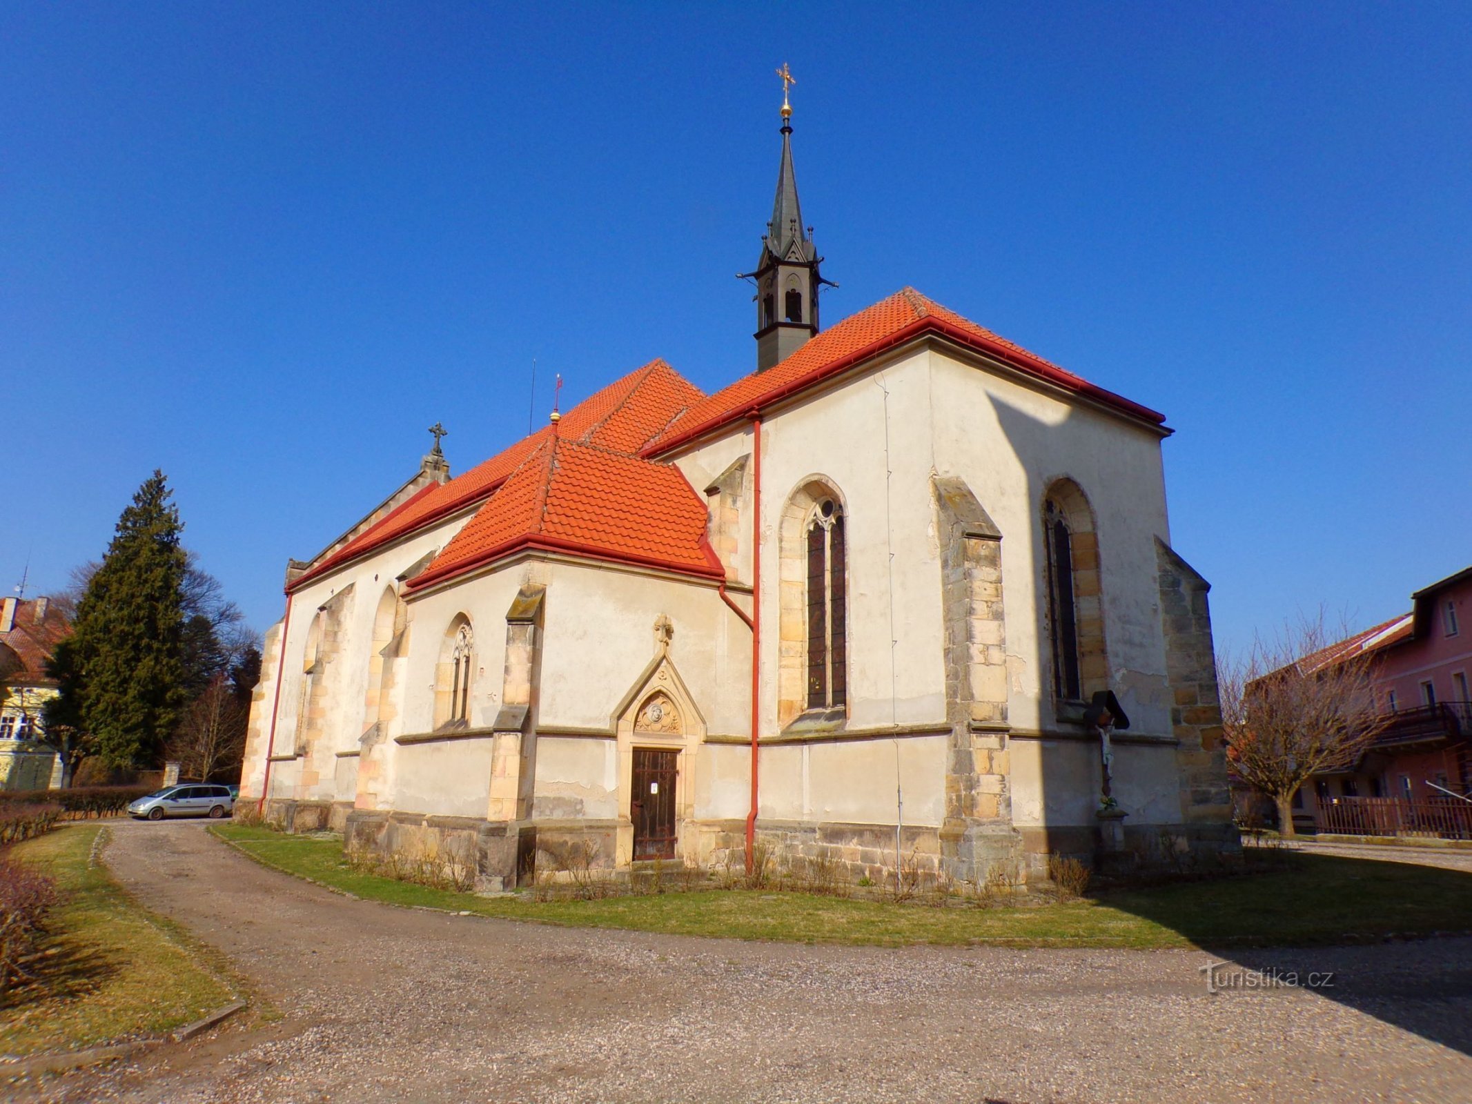
[[[1373,655],[1331,643],[1323,615],[1289,624],[1217,671],[1226,754],[1248,786],[1272,798],[1282,835],[1292,799],[1322,771],[1354,765],[1390,718],[1375,698]]]

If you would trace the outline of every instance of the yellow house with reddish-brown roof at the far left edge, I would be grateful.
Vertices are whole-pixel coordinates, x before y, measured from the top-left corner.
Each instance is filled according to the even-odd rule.
[[[56,680],[46,661],[71,630],[49,598],[0,599],[0,789],[52,785],[57,755],[46,745],[41,710],[56,696]]]

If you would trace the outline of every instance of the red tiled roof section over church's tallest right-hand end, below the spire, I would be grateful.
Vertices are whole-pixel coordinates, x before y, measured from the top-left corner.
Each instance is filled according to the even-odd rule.
[[[905,287],[857,315],[845,318],[832,330],[817,334],[773,368],[752,372],[715,392],[704,402],[692,405],[668,430],[646,445],[643,453],[648,456],[667,452],[927,331],[972,346],[1027,374],[1103,402],[1125,414],[1157,425],[1164,421],[1163,414],[1097,387],[1083,377],[1075,375],[1020,344],[963,318],[955,311],[941,306],[913,287]]]

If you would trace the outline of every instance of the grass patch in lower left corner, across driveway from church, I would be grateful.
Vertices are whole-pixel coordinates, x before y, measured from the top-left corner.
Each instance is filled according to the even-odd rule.
[[[12,854],[56,877],[35,983],[0,998],[0,1054],[28,1055],[158,1035],[236,999],[236,989],[174,924],[87,858],[100,824],[68,824]]]

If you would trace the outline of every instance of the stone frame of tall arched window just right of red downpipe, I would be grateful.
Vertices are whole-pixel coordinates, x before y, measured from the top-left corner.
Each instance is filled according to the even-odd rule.
[[[843,671],[843,701],[821,708],[808,705],[808,528],[821,517],[824,502],[833,503],[833,517],[843,521],[843,646],[839,665]],[[817,724],[842,727],[848,720],[852,687],[848,674],[852,665],[849,595],[852,595],[852,512],[838,484],[827,475],[811,474],[798,481],[788,495],[779,520],[779,654],[777,654],[777,727]],[[832,559],[829,559],[829,564]],[[832,576],[824,592],[832,595]],[[832,621],[830,621],[832,624]],[[832,639],[832,629],[830,639]],[[832,692],[832,680],[829,683]]]

